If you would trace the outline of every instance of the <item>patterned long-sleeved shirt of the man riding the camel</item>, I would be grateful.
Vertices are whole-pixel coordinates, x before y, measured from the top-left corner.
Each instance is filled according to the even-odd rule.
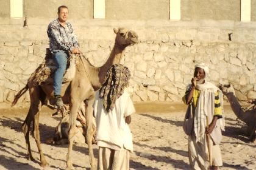
[[[79,47],[77,37],[74,34],[73,27],[69,22],[66,22],[65,27],[63,27],[58,18],[54,19],[48,25],[47,34],[52,53],[68,52],[73,50],[74,47]]]

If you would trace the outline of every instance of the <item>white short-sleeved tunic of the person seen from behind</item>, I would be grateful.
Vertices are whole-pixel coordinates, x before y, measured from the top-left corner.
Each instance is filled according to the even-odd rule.
[[[125,117],[133,114],[133,106],[130,95],[124,90],[121,97],[115,102],[115,107],[107,112],[103,101],[96,92],[94,102],[94,116],[96,118],[96,142],[99,147],[107,147],[115,150],[133,151],[132,133]]]

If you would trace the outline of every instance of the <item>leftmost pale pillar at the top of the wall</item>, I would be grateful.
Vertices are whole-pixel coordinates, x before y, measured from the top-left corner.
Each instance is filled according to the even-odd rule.
[[[23,17],[23,0],[10,0],[10,17]]]

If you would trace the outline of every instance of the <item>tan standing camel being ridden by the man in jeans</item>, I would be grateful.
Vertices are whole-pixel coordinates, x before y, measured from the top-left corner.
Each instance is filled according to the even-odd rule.
[[[93,118],[93,103],[95,91],[101,87],[101,84],[104,83],[104,78],[107,73],[107,70],[113,65],[118,64],[121,61],[124,50],[127,46],[138,43],[138,35],[132,30],[127,30],[124,28],[114,29],[116,34],[115,45],[113,46],[112,52],[110,53],[109,58],[101,67],[92,66],[89,61],[84,57],[79,56],[79,63],[76,66],[76,73],[73,80],[68,83],[63,84],[62,86],[62,100],[65,104],[70,104],[70,114],[69,114],[69,123],[70,129],[68,134],[68,153],[66,166],[67,169],[73,169],[73,163],[71,160],[71,151],[73,149],[74,135],[76,134],[76,119],[77,111],[82,102],[85,102],[87,107],[86,112],[86,121],[87,121],[87,132],[85,138],[87,139],[89,156],[90,156],[90,165],[91,169],[96,169],[96,164],[94,161],[93,147],[92,147],[92,137],[93,137],[93,128],[92,128],[92,118]],[[37,70],[36,70],[37,71]],[[35,72],[36,72],[35,71]],[[30,76],[27,81],[26,87],[20,90],[18,94],[15,95],[12,105],[16,104],[18,99],[29,90],[30,94],[30,107],[26,119],[23,123],[23,133],[25,136],[27,144],[27,154],[30,160],[34,160],[32,157],[30,142],[29,142],[29,129],[30,123],[33,121],[33,134],[35,141],[37,143],[38,152],[40,153],[40,165],[47,166],[48,163],[44,157],[43,150],[40,144],[40,135],[39,135],[39,115],[40,109],[43,101],[47,98],[54,98],[53,86],[52,84],[35,84],[34,73]]]

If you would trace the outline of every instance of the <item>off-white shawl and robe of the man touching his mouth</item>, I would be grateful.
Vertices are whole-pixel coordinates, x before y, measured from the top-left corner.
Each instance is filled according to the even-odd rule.
[[[191,168],[206,170],[208,169],[207,159],[209,154],[205,136],[205,127],[207,126],[206,119],[208,117],[209,124],[213,120],[215,92],[219,89],[209,82],[197,84],[196,89],[201,90],[201,94],[199,95],[195,109],[194,129],[192,129],[191,135],[188,136],[188,157]],[[220,90],[219,95],[223,111],[222,92]],[[212,163],[214,166],[222,166],[221,150],[219,148],[219,143],[222,138],[221,129],[224,130],[224,115],[217,120],[213,132],[210,134],[209,148],[211,148],[212,151]]]

